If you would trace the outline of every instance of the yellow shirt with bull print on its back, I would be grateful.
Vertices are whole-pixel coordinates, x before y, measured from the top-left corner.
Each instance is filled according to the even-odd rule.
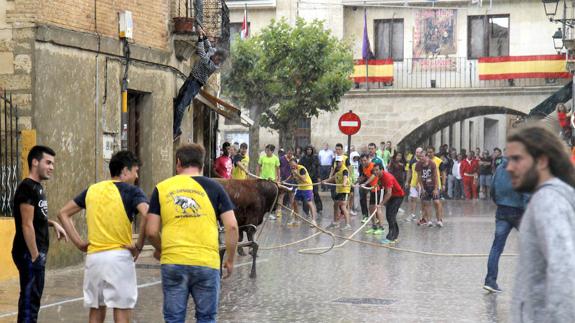
[[[176,175],[156,189],[162,219],[160,262],[219,269],[216,212],[202,185],[189,175]]]

